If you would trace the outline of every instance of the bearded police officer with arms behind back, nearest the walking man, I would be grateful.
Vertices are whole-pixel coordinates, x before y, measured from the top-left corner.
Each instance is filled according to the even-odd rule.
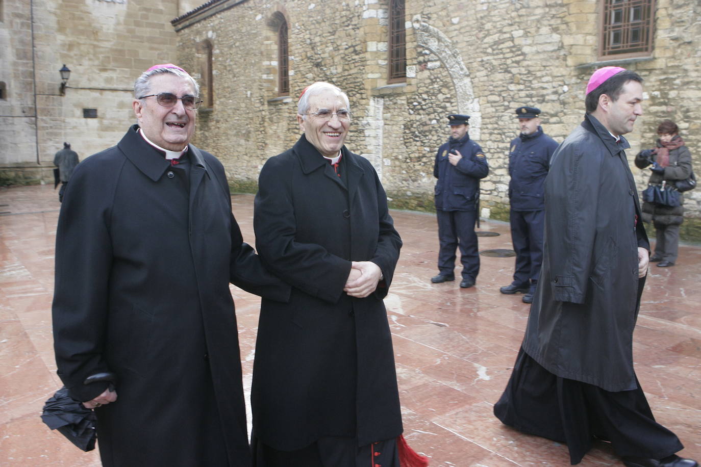
[[[511,241],[516,251],[514,281],[501,293],[525,293],[524,303],[533,302],[543,263],[543,189],[550,157],[557,143],[540,127],[540,109],[519,107],[516,118],[521,134],[511,141],[509,153],[509,200]]]

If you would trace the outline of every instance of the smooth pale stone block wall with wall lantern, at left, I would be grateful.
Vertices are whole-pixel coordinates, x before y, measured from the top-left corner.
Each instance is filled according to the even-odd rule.
[[[135,78],[153,64],[177,61],[170,20],[184,13],[178,8],[177,0],[5,0],[0,183],[52,179],[63,141],[81,160],[116,144],[135,123]],[[62,96],[63,64],[72,73]],[[84,118],[83,109],[95,109],[97,118]]]

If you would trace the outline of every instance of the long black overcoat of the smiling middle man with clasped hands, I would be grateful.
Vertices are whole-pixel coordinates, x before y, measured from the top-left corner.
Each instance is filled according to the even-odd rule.
[[[402,433],[382,301],[402,242],[372,165],[341,151],[347,188],[304,135],[270,158],[259,177],[256,246],[292,294],[284,305],[261,304],[253,431],[280,450],[323,436],[357,436],[367,445]],[[343,292],[352,260],[382,270],[384,280],[367,298]]]

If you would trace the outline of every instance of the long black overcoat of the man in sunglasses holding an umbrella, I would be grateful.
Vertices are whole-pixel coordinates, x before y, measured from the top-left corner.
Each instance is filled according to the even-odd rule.
[[[61,206],[53,324],[58,373],[96,410],[104,466],[249,466],[229,280],[285,299],[243,244],[221,163],[189,147],[170,166],[131,127],[84,160]]]

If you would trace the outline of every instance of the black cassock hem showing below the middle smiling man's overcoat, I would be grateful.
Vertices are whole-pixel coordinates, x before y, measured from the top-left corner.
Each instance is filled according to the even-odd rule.
[[[355,438],[325,437],[296,451],[278,451],[255,435],[253,467],[400,467],[397,440],[358,447]]]

